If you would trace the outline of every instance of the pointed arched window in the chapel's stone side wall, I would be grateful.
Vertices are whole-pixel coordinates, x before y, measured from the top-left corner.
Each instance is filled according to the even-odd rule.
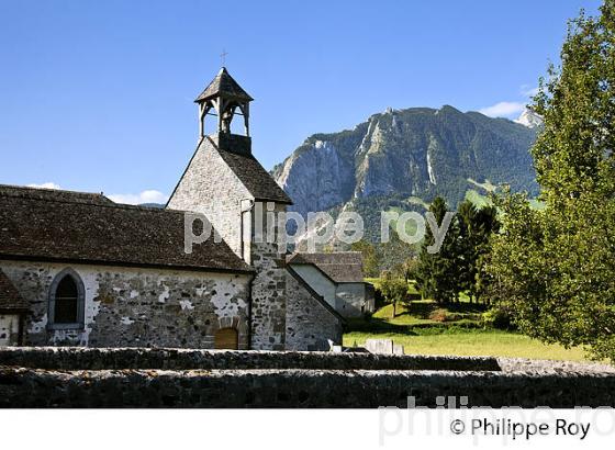
[[[74,270],[62,271],[52,283],[48,325],[53,329],[83,327],[85,289]]]

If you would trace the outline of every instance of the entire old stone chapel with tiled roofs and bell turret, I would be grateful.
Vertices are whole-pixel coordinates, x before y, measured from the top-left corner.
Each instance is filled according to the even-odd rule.
[[[255,212],[283,214],[291,199],[251,154],[251,101],[225,68],[197,98],[199,143],[165,209],[0,185],[0,346],[340,344],[344,318],[287,263],[280,235],[257,238]],[[187,212],[220,239],[187,254]]]

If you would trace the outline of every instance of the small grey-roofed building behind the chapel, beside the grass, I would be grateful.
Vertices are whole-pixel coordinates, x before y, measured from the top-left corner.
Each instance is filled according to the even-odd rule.
[[[342,316],[373,313],[373,286],[364,281],[359,251],[294,254],[287,261]]]

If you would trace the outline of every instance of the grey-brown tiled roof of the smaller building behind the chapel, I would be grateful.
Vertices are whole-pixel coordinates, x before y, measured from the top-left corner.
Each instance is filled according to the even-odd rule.
[[[364,281],[364,259],[360,251],[294,254],[288,257],[288,262],[314,265],[336,283],[361,283]]]

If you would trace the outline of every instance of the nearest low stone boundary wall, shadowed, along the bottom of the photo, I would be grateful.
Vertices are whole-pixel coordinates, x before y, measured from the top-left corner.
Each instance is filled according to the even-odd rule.
[[[455,371],[77,371],[0,368],[0,407],[615,406],[615,375]]]

